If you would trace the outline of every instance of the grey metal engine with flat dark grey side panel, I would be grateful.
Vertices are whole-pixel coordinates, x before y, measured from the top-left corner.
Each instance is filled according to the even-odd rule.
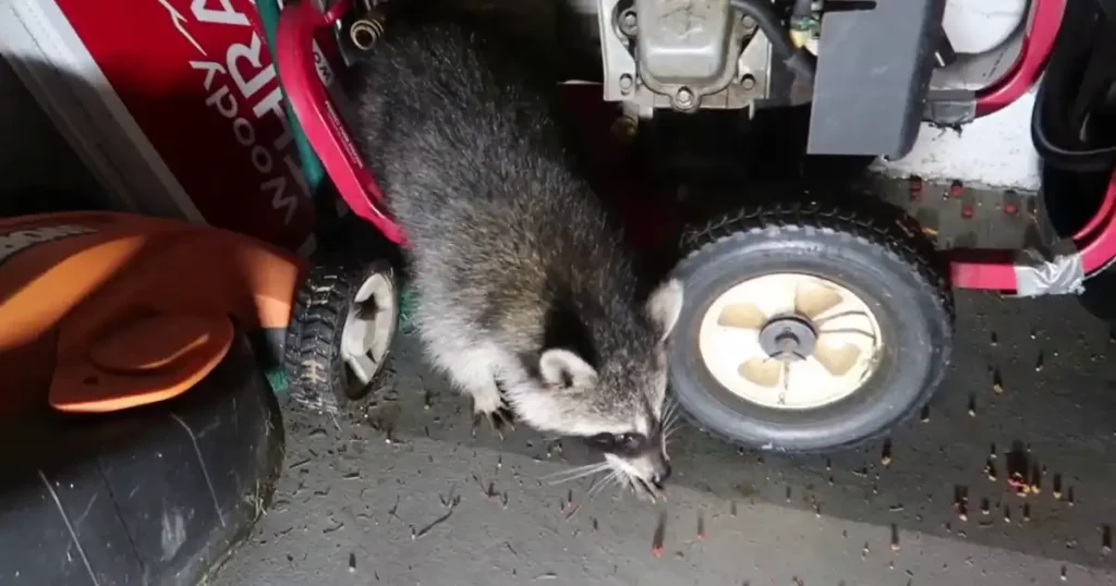
[[[895,158],[911,151],[931,75],[952,52],[944,8],[944,0],[573,4],[595,21],[605,99],[633,119],[810,103],[809,154]]]

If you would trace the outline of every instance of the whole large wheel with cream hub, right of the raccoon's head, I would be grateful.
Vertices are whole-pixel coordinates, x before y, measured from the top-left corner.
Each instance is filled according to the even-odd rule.
[[[779,204],[686,232],[671,386],[735,444],[818,452],[886,433],[950,363],[953,299],[921,232],[877,212]]]

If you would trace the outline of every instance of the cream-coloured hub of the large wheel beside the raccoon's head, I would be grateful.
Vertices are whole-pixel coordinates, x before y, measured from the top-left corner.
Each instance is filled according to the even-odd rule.
[[[825,278],[773,273],[713,300],[699,350],[730,393],[778,410],[817,409],[857,392],[883,352],[868,305]]]

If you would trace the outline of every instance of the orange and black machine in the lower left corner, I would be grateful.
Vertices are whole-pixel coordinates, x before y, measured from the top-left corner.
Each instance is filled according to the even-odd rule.
[[[279,344],[249,337],[281,343],[304,272],[181,221],[0,219],[0,582],[196,584],[224,559],[282,463]]]

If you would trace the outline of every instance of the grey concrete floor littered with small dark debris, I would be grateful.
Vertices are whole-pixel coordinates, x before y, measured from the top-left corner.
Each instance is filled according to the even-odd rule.
[[[888,464],[883,442],[787,458],[686,429],[657,506],[541,480],[585,463],[578,445],[472,438],[468,402],[404,338],[372,402],[288,410],[275,502],[212,584],[1116,584],[1109,328],[1075,299],[965,294],[959,314],[955,367]],[[1017,457],[1038,493],[1008,486]]]

